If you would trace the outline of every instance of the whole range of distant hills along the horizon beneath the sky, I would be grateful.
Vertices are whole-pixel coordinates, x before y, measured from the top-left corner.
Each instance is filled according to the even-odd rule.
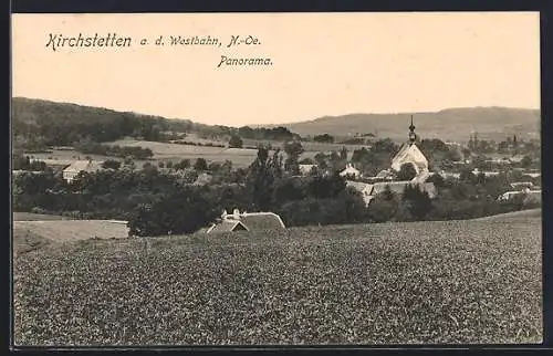
[[[333,136],[348,136],[356,133],[371,133],[380,138],[405,140],[410,115],[410,113],[348,114],[265,127],[275,129],[276,126],[284,126],[301,136],[325,133]],[[513,134],[524,139],[540,137],[540,111],[538,109],[449,108],[435,113],[413,113],[413,115],[416,132],[421,138],[466,142],[472,132],[478,132],[480,138],[495,140],[502,140],[507,135]],[[23,143],[29,146],[29,142],[32,140],[39,144],[64,146],[72,145],[84,137],[96,142],[112,142],[126,136],[152,137],[149,140],[157,140],[159,132],[197,133],[217,139],[234,133],[240,134],[242,138],[255,139],[268,139],[282,134],[279,129],[267,132],[257,129],[259,126],[251,127],[255,128],[238,130],[234,127],[205,125],[190,119],[171,119],[25,97],[12,98],[12,133],[17,145]]]

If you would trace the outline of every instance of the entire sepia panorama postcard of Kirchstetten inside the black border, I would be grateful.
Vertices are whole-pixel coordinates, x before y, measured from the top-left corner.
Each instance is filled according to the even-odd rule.
[[[539,12],[14,13],[13,347],[543,342]]]

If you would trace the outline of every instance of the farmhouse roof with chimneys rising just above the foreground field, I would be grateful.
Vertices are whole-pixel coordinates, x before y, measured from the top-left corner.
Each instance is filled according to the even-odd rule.
[[[240,212],[234,209],[232,214],[225,210],[221,219],[215,222],[206,232],[233,232],[233,231],[267,231],[285,229],[282,219],[274,212]]]

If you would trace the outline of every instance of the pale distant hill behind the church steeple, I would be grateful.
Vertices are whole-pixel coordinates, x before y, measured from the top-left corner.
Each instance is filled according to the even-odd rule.
[[[302,136],[330,134],[377,134],[378,137],[405,139],[411,113],[348,114],[324,116],[314,121],[285,125]],[[448,108],[435,113],[413,113],[416,132],[422,138],[466,142],[471,132],[488,139],[504,139],[517,134],[521,138],[539,138],[540,111],[508,107]]]

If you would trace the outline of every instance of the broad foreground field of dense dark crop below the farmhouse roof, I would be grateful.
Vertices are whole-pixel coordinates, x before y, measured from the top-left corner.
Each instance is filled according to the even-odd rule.
[[[15,342],[539,343],[540,229],[526,218],[45,247],[17,263]]]

